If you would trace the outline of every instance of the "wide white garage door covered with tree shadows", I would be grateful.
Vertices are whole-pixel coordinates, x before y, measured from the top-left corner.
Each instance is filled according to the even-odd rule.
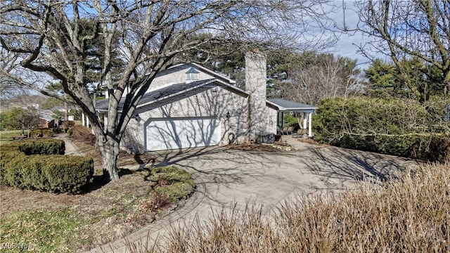
[[[214,118],[151,119],[146,150],[173,150],[219,145],[220,124]]]

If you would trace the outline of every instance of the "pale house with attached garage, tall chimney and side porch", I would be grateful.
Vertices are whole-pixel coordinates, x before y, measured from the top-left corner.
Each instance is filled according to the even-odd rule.
[[[139,153],[257,141],[277,134],[285,112],[303,112],[311,136],[314,106],[266,99],[266,58],[261,53],[245,54],[245,90],[235,84],[195,63],[160,72],[136,107],[122,148]],[[108,98],[96,108],[106,124]]]

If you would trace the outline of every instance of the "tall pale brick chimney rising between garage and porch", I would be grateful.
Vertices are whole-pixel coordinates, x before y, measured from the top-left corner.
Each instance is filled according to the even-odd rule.
[[[245,90],[250,93],[248,131],[250,140],[264,133],[266,126],[266,56],[257,49],[245,53]]]

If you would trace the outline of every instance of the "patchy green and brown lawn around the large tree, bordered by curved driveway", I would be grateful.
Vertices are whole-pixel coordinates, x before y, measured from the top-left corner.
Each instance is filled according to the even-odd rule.
[[[77,145],[95,153],[92,145]],[[94,176],[82,195],[0,186],[0,252],[89,250],[173,212],[195,190],[191,176],[176,167],[120,169],[120,175],[108,184]]]

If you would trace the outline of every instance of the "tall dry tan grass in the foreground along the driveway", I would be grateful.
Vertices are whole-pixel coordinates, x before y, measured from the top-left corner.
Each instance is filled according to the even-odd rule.
[[[423,164],[342,195],[309,195],[271,214],[214,209],[205,223],[172,228],[166,244],[131,252],[449,252],[450,164]]]

